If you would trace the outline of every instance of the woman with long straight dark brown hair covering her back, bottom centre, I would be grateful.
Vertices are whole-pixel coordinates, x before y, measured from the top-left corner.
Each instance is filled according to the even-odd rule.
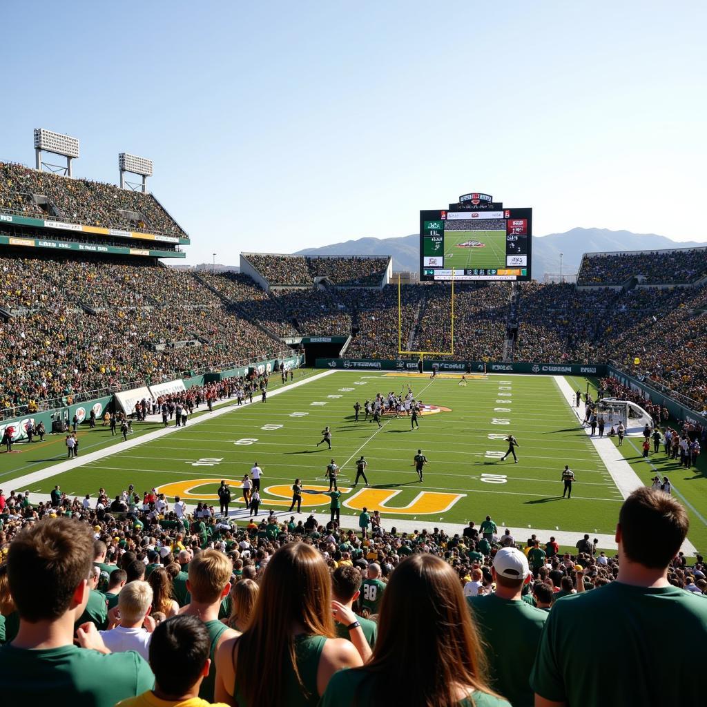
[[[486,683],[462,585],[435,555],[404,559],[387,583],[367,665],[329,681],[322,707],[510,707]]]

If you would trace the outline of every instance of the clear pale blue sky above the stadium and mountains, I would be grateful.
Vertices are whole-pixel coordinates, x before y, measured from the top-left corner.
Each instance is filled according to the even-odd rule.
[[[484,191],[574,226],[707,241],[707,6],[3,0],[0,159],[151,190],[187,262],[416,233]]]

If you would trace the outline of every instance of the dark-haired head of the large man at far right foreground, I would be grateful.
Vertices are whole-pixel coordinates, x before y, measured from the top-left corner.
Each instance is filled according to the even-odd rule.
[[[688,528],[687,513],[677,501],[641,486],[621,506],[617,542],[629,562],[660,569],[677,554]]]

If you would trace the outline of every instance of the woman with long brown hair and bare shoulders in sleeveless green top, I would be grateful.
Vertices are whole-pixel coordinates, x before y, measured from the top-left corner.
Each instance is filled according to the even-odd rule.
[[[362,662],[354,643],[334,638],[332,614],[351,627],[352,641],[366,641],[356,615],[332,602],[321,554],[303,542],[281,547],[263,573],[249,628],[218,647],[216,702],[316,706],[337,670]]]

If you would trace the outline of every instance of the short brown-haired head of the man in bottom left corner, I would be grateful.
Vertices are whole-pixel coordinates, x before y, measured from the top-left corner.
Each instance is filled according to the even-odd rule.
[[[8,580],[21,619],[54,621],[88,600],[93,532],[70,518],[47,518],[10,545]]]

